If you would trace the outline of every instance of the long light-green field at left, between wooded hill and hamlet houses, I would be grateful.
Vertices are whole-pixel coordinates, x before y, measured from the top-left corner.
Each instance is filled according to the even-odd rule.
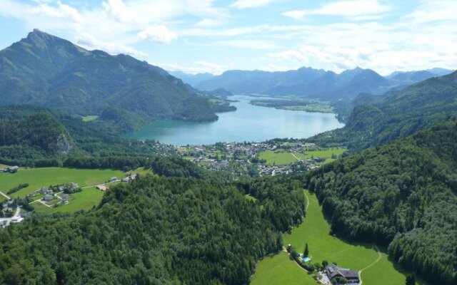
[[[59,167],[20,169],[13,174],[0,173],[0,191],[6,193],[20,183],[29,183],[29,187],[11,194],[11,197],[21,197],[49,185],[76,182],[80,187],[86,187],[106,182],[113,176],[124,177],[124,173],[120,170],[79,170]]]

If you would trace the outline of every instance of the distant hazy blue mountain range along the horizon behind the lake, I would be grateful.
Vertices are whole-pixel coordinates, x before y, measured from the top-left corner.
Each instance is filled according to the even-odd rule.
[[[195,76],[181,72],[173,74],[201,90],[222,88],[231,93],[300,95],[335,102],[352,100],[360,93],[382,94],[451,72],[433,68],[426,71],[395,72],[383,77],[371,69],[355,68],[338,74],[303,67],[296,71],[226,71],[220,76],[211,76],[209,73]]]

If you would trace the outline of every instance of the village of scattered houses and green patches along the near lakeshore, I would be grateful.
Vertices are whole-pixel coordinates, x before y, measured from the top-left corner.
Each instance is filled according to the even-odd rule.
[[[207,170],[228,171],[235,176],[274,176],[318,168],[326,159],[318,156],[317,145],[306,142],[218,142],[214,145],[186,145],[178,152]],[[307,157],[307,153],[316,156]]]

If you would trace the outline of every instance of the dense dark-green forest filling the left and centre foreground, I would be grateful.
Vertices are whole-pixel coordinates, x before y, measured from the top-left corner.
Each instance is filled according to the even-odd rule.
[[[247,284],[305,206],[296,181],[248,183],[256,202],[233,184],[146,177],[90,212],[34,215],[0,231],[0,283]]]

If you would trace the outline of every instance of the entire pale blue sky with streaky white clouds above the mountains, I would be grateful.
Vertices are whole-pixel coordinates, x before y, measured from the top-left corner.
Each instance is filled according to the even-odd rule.
[[[187,73],[457,66],[457,0],[0,0],[0,48],[33,28]]]

